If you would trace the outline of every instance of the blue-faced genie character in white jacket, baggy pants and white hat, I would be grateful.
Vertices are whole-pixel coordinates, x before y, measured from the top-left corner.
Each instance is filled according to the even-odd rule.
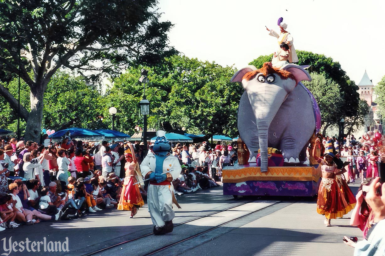
[[[174,228],[172,224],[175,217],[172,209],[174,187],[171,181],[178,178],[182,171],[179,160],[169,153],[171,146],[165,134],[164,131],[157,131],[154,154],[149,153],[141,164],[142,175],[145,179],[150,179],[147,202],[155,235],[172,232]],[[167,171],[170,172],[165,173]]]

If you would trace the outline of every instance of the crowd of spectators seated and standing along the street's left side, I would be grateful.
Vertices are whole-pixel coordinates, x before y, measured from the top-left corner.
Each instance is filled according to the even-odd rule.
[[[84,214],[116,208],[125,170],[123,142],[83,142],[69,137],[49,145],[3,138],[0,145],[0,231],[40,221],[67,220]],[[146,151],[135,141],[139,164]],[[152,146],[147,148],[152,153]],[[172,181],[181,196],[220,186],[221,170],[233,165],[231,145],[208,143],[172,145],[172,155],[182,171]],[[147,183],[140,187],[146,198]]]

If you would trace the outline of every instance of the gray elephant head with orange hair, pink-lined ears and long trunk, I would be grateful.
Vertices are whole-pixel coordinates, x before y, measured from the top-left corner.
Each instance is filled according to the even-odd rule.
[[[268,168],[268,128],[288,94],[300,81],[310,81],[309,73],[301,66],[288,64],[281,69],[274,68],[270,62],[256,69],[247,66],[237,71],[231,82],[241,82],[247,92],[258,128],[261,154],[261,171]],[[239,110],[242,111],[242,110]]]

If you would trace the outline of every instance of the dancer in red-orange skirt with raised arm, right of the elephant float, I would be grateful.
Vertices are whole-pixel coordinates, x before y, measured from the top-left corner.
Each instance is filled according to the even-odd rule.
[[[318,189],[317,213],[325,215],[325,225],[330,227],[330,219],[342,217],[350,211],[349,204],[346,202],[335,180],[336,175],[340,175],[346,170],[340,170],[343,166],[338,168],[333,162],[335,155],[330,152],[333,150],[333,143],[330,141],[325,145],[325,160],[318,157],[315,148],[319,146],[319,143],[320,140],[317,138],[313,148],[313,158],[320,163],[322,170],[321,184]]]

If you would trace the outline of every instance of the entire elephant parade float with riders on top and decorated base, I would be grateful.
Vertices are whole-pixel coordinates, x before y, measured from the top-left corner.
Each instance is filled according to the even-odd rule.
[[[223,169],[223,194],[315,196],[321,168],[306,156],[321,127],[314,96],[301,83],[310,81],[293,37],[278,20],[278,49],[262,68],[246,66],[231,78],[244,88],[238,108],[238,163]],[[310,148],[312,150],[312,148]],[[321,150],[319,150],[320,153]]]

